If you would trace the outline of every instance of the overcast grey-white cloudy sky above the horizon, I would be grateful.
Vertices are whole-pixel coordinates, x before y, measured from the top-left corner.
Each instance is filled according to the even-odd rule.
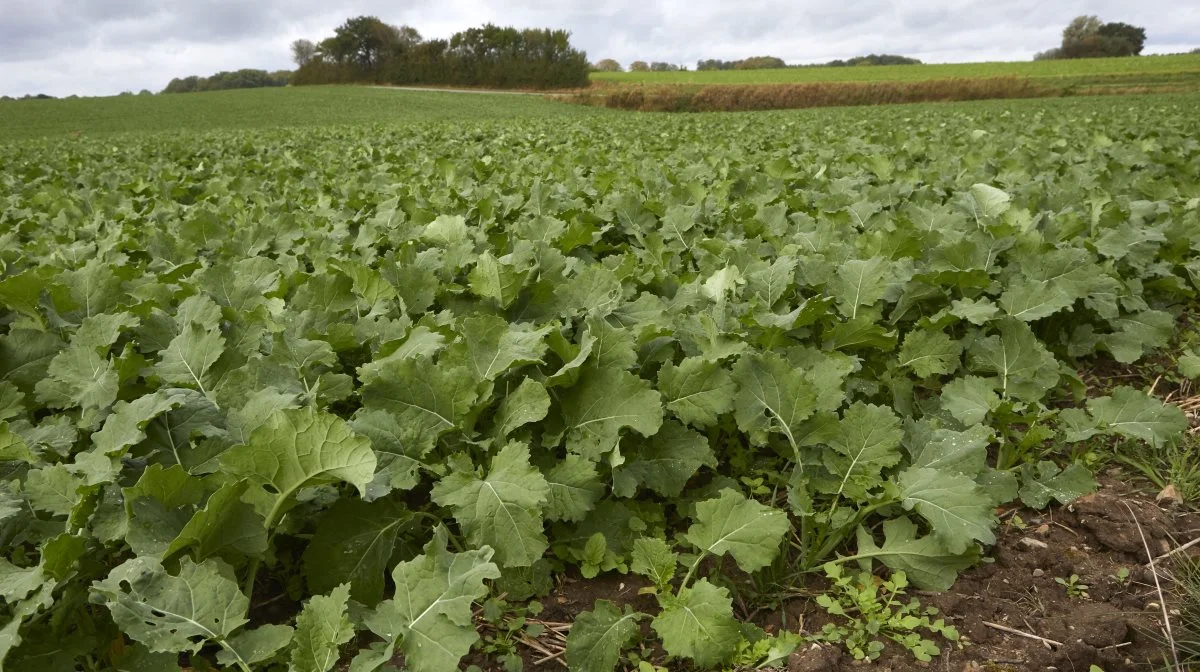
[[[487,22],[565,28],[593,61],[694,67],[702,58],[799,64],[871,52],[1026,60],[1085,13],[1145,26],[1146,53],[1200,47],[1195,0],[0,0],[0,95],[160,91],[174,77],[289,68],[293,40],[319,41],[359,14],[425,37]]]

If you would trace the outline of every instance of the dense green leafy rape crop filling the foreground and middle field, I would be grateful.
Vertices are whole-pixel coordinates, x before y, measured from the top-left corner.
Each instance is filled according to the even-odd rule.
[[[1079,372],[1200,290],[1194,107],[6,140],[0,662],[449,671],[635,572],[565,661],[715,668],[794,646],[748,587],[948,588],[1078,446],[1187,448]]]

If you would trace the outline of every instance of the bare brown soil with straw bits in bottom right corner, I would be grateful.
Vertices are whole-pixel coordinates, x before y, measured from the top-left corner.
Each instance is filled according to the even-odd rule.
[[[942,655],[930,664],[889,648],[871,670],[1085,672],[1099,665],[1105,672],[1122,672],[1162,662],[1159,598],[1130,509],[1156,556],[1200,534],[1200,515],[1164,510],[1152,497],[1133,493],[1117,481],[1070,506],[1042,514],[1015,511],[1026,527],[1003,526],[989,552],[994,562],[964,572],[947,593],[919,595],[922,604],[936,606],[958,626],[964,646],[943,646]],[[1123,583],[1116,578],[1122,568],[1129,570]],[[1079,575],[1080,583],[1088,586],[1087,598],[1069,596],[1055,581],[1070,575]],[[798,616],[817,622],[823,616],[818,611],[803,605]],[[1062,646],[1004,632],[984,622]],[[817,655],[828,654],[806,650],[793,655],[791,670],[835,672],[863,665],[842,658],[823,667],[805,667],[808,659]]]

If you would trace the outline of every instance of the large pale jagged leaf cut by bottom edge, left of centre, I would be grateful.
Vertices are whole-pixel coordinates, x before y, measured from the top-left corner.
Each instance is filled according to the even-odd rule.
[[[359,653],[350,672],[378,670],[398,649],[413,672],[450,672],[479,641],[470,605],[487,594],[484,581],[498,578],[488,547],[464,553],[446,551],[439,528],[425,554],[392,570],[396,596],[368,612],[364,625],[383,637],[383,644]]]

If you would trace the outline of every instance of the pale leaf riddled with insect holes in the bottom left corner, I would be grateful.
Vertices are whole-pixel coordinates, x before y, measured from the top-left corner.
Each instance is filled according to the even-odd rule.
[[[182,558],[172,576],[152,558],[133,558],[92,583],[92,599],[151,652],[197,653],[247,623],[250,600],[217,559]]]

